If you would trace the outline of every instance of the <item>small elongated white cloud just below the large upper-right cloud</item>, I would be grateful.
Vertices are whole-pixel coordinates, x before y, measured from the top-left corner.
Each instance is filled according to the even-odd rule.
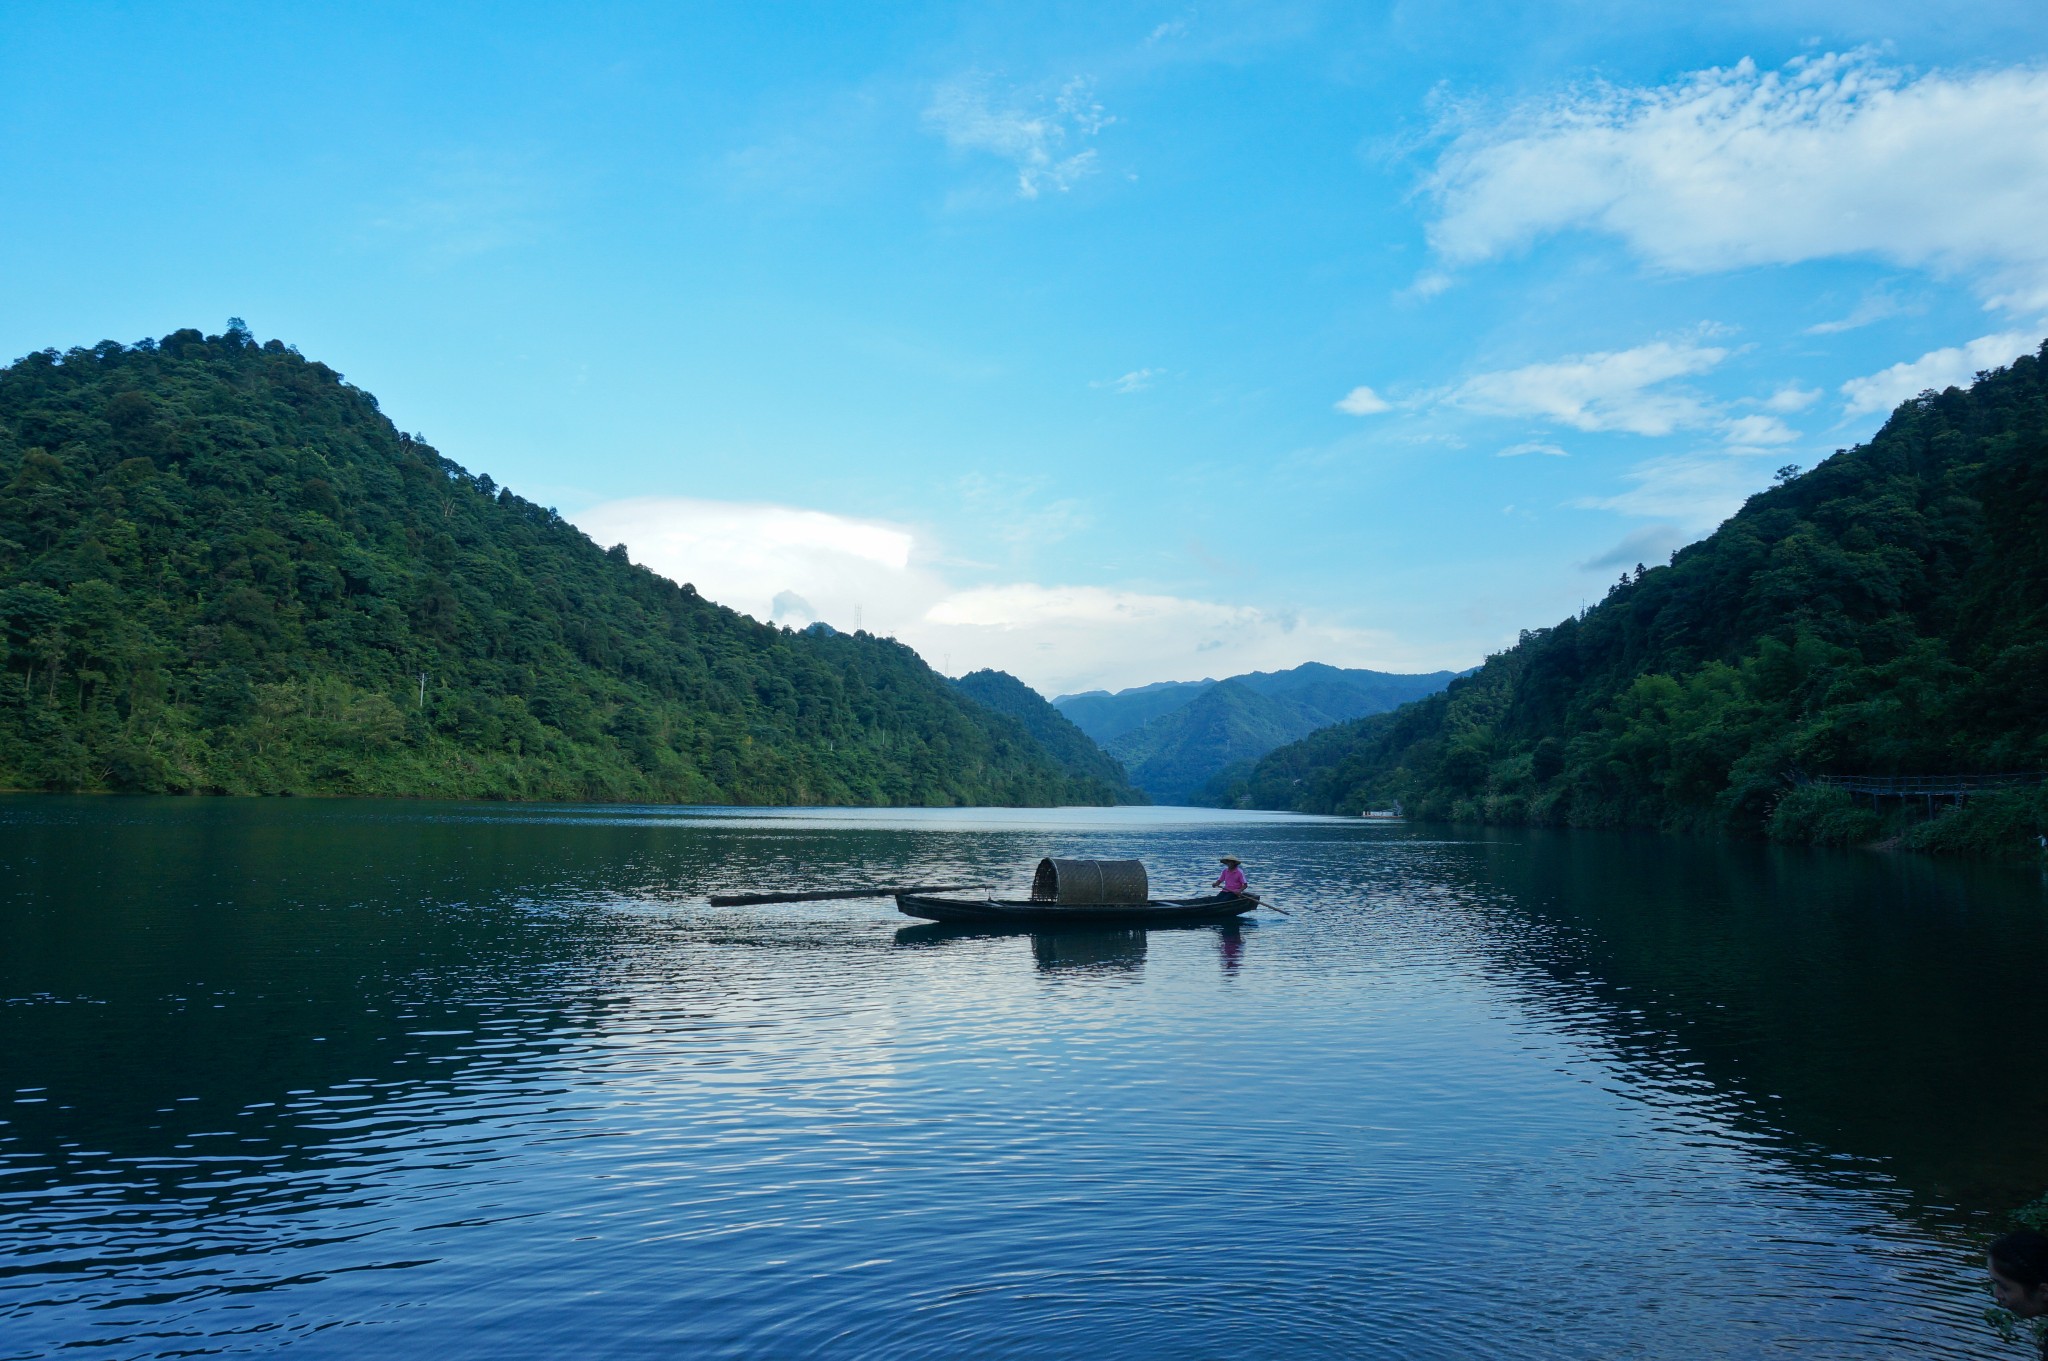
[[[1726,354],[1714,346],[1659,340],[1632,350],[1483,372],[1460,383],[1448,399],[1487,415],[1540,415],[1573,430],[1661,436],[1710,424],[1712,409],[1700,397],[1665,385],[1706,372]]]

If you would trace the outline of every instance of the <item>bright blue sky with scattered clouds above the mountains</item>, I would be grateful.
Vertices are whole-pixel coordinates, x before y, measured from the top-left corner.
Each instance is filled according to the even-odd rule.
[[[14,6],[0,352],[1047,694],[1470,665],[2048,332],[2028,4],[418,8]]]

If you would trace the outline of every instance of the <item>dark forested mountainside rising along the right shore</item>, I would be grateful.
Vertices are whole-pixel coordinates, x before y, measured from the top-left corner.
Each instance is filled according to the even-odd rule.
[[[2048,375],[1903,403],[1470,677],[1274,751],[1243,806],[2025,845],[2040,790],[1890,819],[1825,774],[2048,770]],[[1890,823],[1890,825],[1886,825]]]

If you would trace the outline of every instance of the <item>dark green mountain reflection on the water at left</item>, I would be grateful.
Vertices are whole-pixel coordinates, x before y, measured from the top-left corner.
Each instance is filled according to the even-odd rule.
[[[561,986],[594,966],[588,909],[526,907],[578,866],[549,847],[543,868],[516,827],[127,806],[152,817],[115,829],[117,853],[66,802],[12,806],[31,817],[8,827],[0,1042],[10,1085],[43,1093],[8,1111],[16,1191],[104,1162],[121,1175],[100,1185],[141,1201],[246,1201],[238,1165],[268,1199],[338,1193],[330,1144],[393,1111],[442,1128],[492,1085],[516,1103],[602,1025],[600,999]]]

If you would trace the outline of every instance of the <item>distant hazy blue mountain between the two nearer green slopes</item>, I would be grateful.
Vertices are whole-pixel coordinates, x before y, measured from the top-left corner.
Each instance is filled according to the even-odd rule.
[[[1057,704],[1153,798],[1208,802],[1219,776],[1241,776],[1274,747],[1434,694],[1450,677],[1450,671],[1393,675],[1309,661],[1225,682],[1161,682],[1118,694],[1094,690]]]

